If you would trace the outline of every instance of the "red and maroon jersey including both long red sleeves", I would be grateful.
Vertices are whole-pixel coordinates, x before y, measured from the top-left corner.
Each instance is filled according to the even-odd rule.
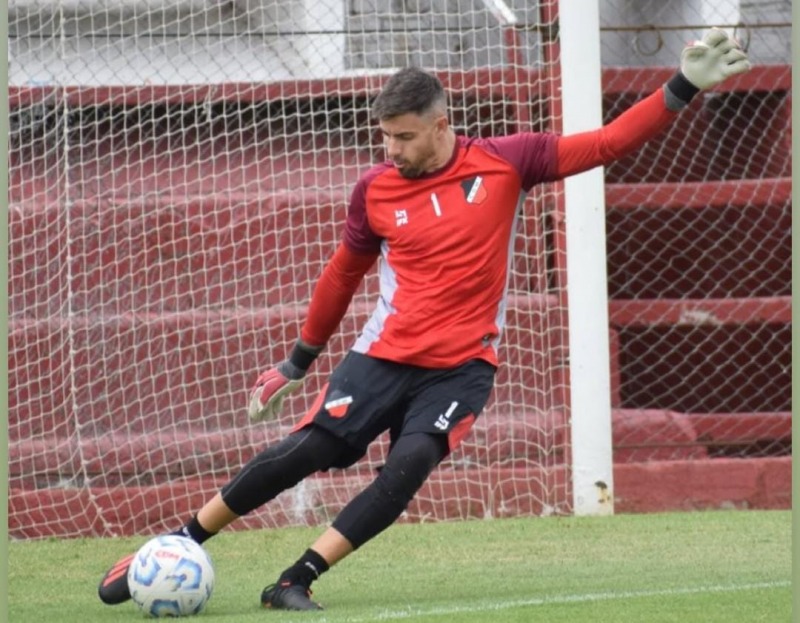
[[[326,265],[301,338],[327,343],[380,255],[380,297],[354,350],[423,367],[497,365],[512,237],[525,193],[632,153],[677,116],[658,89],[597,130],[458,137],[439,171],[405,179],[370,169],[350,200],[344,240]]]

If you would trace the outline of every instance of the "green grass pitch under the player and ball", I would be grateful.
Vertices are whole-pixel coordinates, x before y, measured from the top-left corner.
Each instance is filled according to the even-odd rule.
[[[314,585],[322,613],[264,611],[265,584],[320,529],[226,532],[196,620],[731,623],[791,619],[791,514],[715,511],[396,525]],[[97,599],[143,537],[12,542],[9,621],[141,621]]]

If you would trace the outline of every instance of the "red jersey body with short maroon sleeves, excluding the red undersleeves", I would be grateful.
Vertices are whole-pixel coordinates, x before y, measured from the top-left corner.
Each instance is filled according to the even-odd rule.
[[[442,169],[406,179],[391,163],[353,192],[344,244],[380,252],[380,297],[353,350],[444,368],[497,365],[512,239],[525,194],[554,179],[556,137],[458,137]]]

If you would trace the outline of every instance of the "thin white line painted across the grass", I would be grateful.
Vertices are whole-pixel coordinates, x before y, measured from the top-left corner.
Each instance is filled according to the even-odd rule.
[[[685,588],[667,588],[658,591],[622,591],[607,593],[579,593],[576,595],[552,595],[550,597],[532,597],[530,599],[513,599],[510,601],[475,602],[463,606],[441,606],[434,608],[412,608],[405,610],[383,610],[369,617],[353,618],[328,618],[314,617],[315,623],[369,623],[370,621],[407,621],[417,617],[447,616],[471,612],[497,612],[511,608],[528,606],[549,606],[558,604],[588,603],[595,601],[614,601],[616,599],[638,599],[642,597],[674,597],[677,595],[701,595],[704,593],[735,593],[739,591],[752,591],[774,588],[789,588],[790,580],[778,582],[759,582],[754,584],[729,584],[713,586],[693,586]],[[296,619],[307,623],[307,619]],[[290,623],[290,621],[286,621]]]

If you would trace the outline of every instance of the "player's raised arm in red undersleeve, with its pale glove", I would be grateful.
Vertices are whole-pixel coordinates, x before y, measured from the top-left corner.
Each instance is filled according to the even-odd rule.
[[[556,179],[607,165],[659,134],[702,90],[750,69],[739,44],[719,28],[709,30],[681,53],[680,70],[658,91],[598,130],[558,141]]]

